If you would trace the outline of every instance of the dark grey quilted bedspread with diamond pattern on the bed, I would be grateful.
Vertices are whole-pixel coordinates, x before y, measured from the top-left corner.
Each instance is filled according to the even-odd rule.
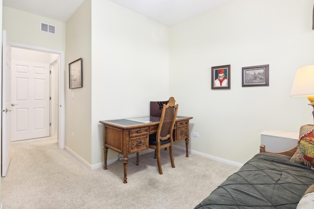
[[[195,209],[295,209],[313,184],[314,170],[288,156],[259,153]]]

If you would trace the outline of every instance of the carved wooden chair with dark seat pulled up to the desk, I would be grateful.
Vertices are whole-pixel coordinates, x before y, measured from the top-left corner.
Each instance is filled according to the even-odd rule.
[[[176,122],[178,113],[178,104],[175,104],[174,97],[170,97],[167,104],[163,104],[160,123],[158,125],[157,133],[149,136],[149,148],[155,149],[155,158],[157,157],[157,164],[159,173],[162,174],[160,164],[160,149],[169,147],[171,165],[174,168],[175,163],[172,155],[173,144],[173,128]]]

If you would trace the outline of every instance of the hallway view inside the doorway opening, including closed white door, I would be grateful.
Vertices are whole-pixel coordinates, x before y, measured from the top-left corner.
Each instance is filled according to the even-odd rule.
[[[52,104],[54,95],[51,93],[57,80],[50,63],[57,63],[58,56],[54,53],[11,48],[11,141],[53,136],[52,107],[55,104]]]

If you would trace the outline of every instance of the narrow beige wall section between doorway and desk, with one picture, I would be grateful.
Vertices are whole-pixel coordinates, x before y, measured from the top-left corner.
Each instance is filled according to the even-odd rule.
[[[65,146],[87,164],[92,161],[91,33],[91,0],[85,0],[66,23]],[[79,58],[83,87],[69,89],[69,63]]]

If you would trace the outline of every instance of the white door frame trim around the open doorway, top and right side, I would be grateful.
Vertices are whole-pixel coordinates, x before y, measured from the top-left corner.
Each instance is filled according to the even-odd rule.
[[[64,106],[64,71],[65,71],[65,57],[64,51],[55,50],[52,48],[45,48],[39,46],[31,46],[19,43],[10,43],[12,47],[43,51],[48,53],[58,54],[60,56],[58,67],[58,141],[59,148],[65,148],[65,106]]]

